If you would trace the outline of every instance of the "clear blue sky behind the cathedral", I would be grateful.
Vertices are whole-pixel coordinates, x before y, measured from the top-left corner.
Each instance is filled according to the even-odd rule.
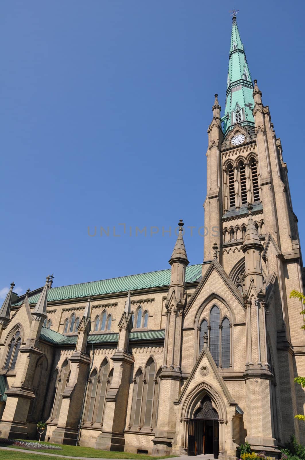
[[[179,219],[196,227],[186,250],[202,262],[206,131],[215,92],[225,106],[232,6],[1,3],[0,296],[49,273],[60,286],[168,268]],[[304,247],[304,2],[234,6]]]

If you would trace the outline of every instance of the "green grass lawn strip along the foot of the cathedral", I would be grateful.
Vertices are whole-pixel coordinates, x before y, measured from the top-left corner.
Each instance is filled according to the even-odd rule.
[[[93,458],[101,458],[101,459],[104,459],[104,458],[108,458],[108,459],[150,459],[150,460],[154,460],[154,459],[165,459],[165,458],[170,458],[170,457],[150,457],[149,455],[145,455],[145,454],[130,454],[129,452],[113,452],[113,451],[109,451],[109,450],[99,450],[99,449],[93,449],[92,447],[80,447],[80,446],[68,446],[66,444],[61,444],[60,446],[62,447],[61,450],[55,450],[55,449],[48,449],[48,445],[53,445],[53,446],[56,446],[56,445],[59,445],[59,444],[51,444],[51,443],[44,443],[41,441],[40,444],[44,444],[45,445],[45,449],[39,449],[39,451],[37,451],[35,449],[35,452],[41,452],[42,454],[44,452],[48,453],[48,454],[55,454],[55,455],[67,455],[67,457],[93,457]],[[12,447],[13,449],[26,449],[26,450],[31,450],[31,449],[27,449],[26,447],[21,447],[21,446],[12,446],[12,445],[6,445],[6,444],[0,444],[1,447]],[[34,450],[34,449],[32,449]],[[15,459],[16,460],[23,460],[23,459],[27,459],[29,460],[29,455],[26,454],[25,452],[20,452],[20,455],[19,456],[19,453],[17,453],[16,451],[15,452],[9,452],[7,450],[3,450],[3,449],[0,449],[0,458],[1,460],[4,460],[6,459],[6,457],[4,457],[3,454],[6,454],[9,455],[11,454],[11,456],[7,456],[8,459]],[[15,455],[15,457],[14,457]],[[36,455],[32,457],[34,460],[36,459]],[[48,457],[47,455],[39,455],[37,457],[37,460],[59,460],[60,457]]]

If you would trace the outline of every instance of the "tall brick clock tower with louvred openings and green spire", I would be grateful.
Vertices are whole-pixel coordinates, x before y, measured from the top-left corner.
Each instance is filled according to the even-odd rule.
[[[252,81],[236,11],[225,110],[221,116],[217,95],[212,110],[206,153],[204,220],[208,234],[204,239],[203,275],[216,243],[220,265],[244,298],[248,358],[243,372],[249,394],[259,385],[262,398],[268,391],[271,394],[271,387],[276,393],[273,401],[264,402],[265,407],[270,406],[268,426],[262,421],[260,427],[247,427],[249,443],[271,452],[279,440],[287,440],[287,433],[298,437],[300,431],[293,414],[298,413],[294,362],[304,359],[305,336],[300,329],[299,301],[290,299],[289,294],[293,289],[303,292],[303,266],[281,140],[276,136],[269,107],[262,102],[257,80]],[[260,330],[255,326],[256,317]],[[259,351],[254,350],[254,341],[261,344]],[[297,356],[294,349],[298,349]],[[276,377],[279,370],[282,374]],[[286,383],[275,390],[276,378]],[[277,417],[272,415],[276,412]],[[278,421],[281,417],[285,426]]]

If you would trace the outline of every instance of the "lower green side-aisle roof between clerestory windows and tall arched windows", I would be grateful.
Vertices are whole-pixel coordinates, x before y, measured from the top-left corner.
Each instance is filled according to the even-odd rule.
[[[163,340],[165,335],[164,329],[157,331],[134,331],[130,332],[130,342]],[[75,345],[77,341],[76,335],[62,335],[48,328],[41,328],[40,339],[49,342],[53,345]],[[102,343],[117,343],[119,339],[118,333],[90,334],[88,336],[88,344]]]

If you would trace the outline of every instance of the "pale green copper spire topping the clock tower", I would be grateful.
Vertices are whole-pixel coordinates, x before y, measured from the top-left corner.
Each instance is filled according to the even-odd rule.
[[[226,89],[226,109],[222,117],[223,132],[232,129],[236,123],[254,127],[253,83],[250,75],[242,40],[233,16],[229,56],[229,72]]]

